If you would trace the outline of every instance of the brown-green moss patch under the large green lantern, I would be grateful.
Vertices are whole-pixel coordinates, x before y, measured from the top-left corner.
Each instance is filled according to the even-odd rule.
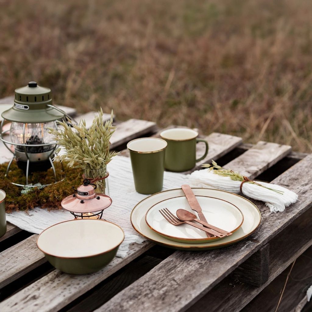
[[[77,188],[82,184],[83,172],[77,168],[66,166],[62,168],[59,163],[55,164],[55,166],[57,178],[61,178],[62,181],[46,186],[41,190],[34,188],[27,194],[21,194],[22,188],[13,185],[11,182],[25,184],[26,178],[23,171],[13,162],[10,166],[9,175],[5,178],[7,163],[0,164],[0,176],[3,177],[0,180],[0,189],[7,194],[5,205],[7,212],[16,210],[27,211],[35,207],[60,209],[62,199],[73,193],[72,187]],[[49,169],[47,172],[35,172],[30,175],[29,183],[35,184],[38,182],[41,184],[53,183],[54,175],[52,169]]]

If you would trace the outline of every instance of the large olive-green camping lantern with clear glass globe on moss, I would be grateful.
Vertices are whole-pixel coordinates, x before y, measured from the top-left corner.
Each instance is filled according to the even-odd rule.
[[[7,175],[13,159],[17,160],[18,167],[26,174],[26,184],[17,185],[30,186],[30,173],[46,171],[51,167],[56,182],[52,158],[57,144],[46,127],[56,128],[56,120],[65,116],[64,111],[52,104],[49,88],[31,81],[26,87],[15,90],[14,105],[2,113],[0,139],[13,154],[7,167]],[[11,126],[3,131],[6,120],[11,122]]]

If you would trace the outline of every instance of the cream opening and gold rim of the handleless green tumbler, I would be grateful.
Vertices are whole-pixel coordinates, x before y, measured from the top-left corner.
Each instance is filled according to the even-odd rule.
[[[167,147],[167,142],[160,138],[139,138],[130,141],[127,149],[134,153],[149,154],[163,151]]]

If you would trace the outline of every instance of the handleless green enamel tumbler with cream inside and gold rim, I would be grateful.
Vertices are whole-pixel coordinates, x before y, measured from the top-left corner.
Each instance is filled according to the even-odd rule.
[[[138,193],[154,194],[162,190],[166,147],[167,142],[159,138],[139,138],[127,144]]]

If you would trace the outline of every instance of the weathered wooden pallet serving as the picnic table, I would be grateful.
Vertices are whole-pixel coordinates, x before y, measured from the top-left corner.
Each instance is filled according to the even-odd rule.
[[[75,116],[81,117],[92,120],[93,113]],[[127,156],[123,149],[129,140],[157,136],[157,131],[150,121],[119,122],[112,149]],[[125,258],[116,257],[90,275],[55,270],[38,250],[36,234],[8,224],[6,235],[0,238],[0,311],[255,309],[255,302],[263,301],[266,286],[312,245],[312,155],[294,153],[290,146],[270,142],[243,144],[241,138],[227,134],[212,133],[205,138],[209,153],[193,170],[214,159],[249,178],[285,186],[298,193],[300,200],[275,214],[254,201],[262,214],[261,225],[235,245],[187,252],[155,246],[150,241],[133,243]],[[0,146],[0,155],[3,151]],[[201,144],[197,153],[202,154]],[[292,297],[294,309],[303,304],[304,295],[298,292]]]

